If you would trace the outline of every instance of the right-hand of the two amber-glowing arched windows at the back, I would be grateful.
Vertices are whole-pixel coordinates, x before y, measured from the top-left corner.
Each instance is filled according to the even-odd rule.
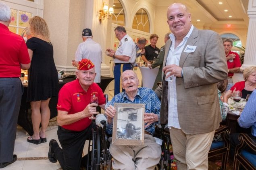
[[[133,29],[143,32],[150,32],[150,25],[147,12],[140,8],[133,18]]]

